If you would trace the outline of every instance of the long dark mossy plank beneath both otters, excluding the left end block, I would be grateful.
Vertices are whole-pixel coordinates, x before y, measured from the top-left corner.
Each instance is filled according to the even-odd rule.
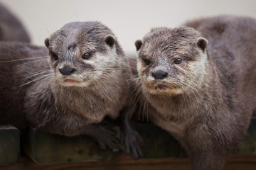
[[[144,158],[188,157],[174,137],[151,123],[138,126],[144,139]],[[63,137],[44,134],[30,129],[24,143],[24,150],[34,162],[88,162],[110,159],[111,149],[102,150],[91,137]],[[256,119],[252,119],[248,134],[235,154],[256,153]]]

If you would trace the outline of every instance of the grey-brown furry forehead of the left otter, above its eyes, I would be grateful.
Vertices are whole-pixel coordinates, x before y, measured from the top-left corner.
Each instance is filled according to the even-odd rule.
[[[99,22],[68,23],[50,36],[52,48],[63,47],[67,50],[97,50],[105,52],[105,35],[111,30]]]

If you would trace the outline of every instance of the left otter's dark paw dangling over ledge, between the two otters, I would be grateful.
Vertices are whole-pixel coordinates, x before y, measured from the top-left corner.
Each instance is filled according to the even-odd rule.
[[[134,160],[143,157],[142,146],[144,142],[137,131],[130,130],[125,135],[122,135],[122,143],[125,145],[125,154],[131,155]]]

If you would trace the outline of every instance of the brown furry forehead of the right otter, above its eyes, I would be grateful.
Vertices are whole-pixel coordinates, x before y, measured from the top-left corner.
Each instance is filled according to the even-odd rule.
[[[199,37],[201,34],[193,28],[153,28],[144,36],[140,53],[186,54],[196,50],[196,40]]]

